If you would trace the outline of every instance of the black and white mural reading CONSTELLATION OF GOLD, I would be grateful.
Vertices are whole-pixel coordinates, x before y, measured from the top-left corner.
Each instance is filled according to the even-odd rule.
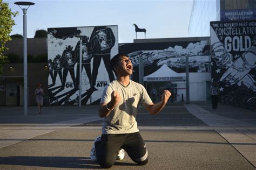
[[[256,21],[211,22],[212,82],[221,102],[252,108],[256,103]]]

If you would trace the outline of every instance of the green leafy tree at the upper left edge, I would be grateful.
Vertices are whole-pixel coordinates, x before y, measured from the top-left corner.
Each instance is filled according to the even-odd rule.
[[[15,25],[12,16],[15,17],[17,14],[18,12],[11,11],[8,3],[0,0],[0,75],[2,75],[4,63],[8,62],[7,56],[4,56],[3,52],[8,50],[5,44],[11,40],[10,33],[12,26]]]

